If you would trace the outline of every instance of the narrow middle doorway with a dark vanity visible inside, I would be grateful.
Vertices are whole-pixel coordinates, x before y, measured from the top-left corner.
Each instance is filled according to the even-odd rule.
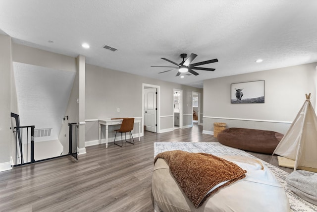
[[[174,130],[183,128],[183,91],[174,89],[173,91],[173,112]]]

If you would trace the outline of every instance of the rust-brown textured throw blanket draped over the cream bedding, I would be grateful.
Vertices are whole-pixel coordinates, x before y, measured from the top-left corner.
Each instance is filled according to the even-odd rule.
[[[219,189],[243,179],[247,172],[230,161],[207,153],[165,151],[155,157],[154,163],[158,158],[167,162],[171,174],[196,208]],[[208,193],[224,181],[228,182]]]

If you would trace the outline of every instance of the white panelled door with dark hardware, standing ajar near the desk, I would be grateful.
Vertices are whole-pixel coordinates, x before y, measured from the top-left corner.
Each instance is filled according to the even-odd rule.
[[[157,89],[149,88],[144,91],[144,125],[145,130],[157,132]]]

